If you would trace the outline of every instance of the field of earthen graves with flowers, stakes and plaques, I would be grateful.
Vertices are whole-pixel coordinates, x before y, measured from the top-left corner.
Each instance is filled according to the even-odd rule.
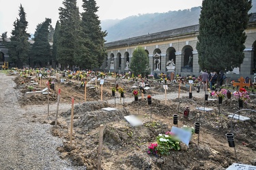
[[[58,113],[61,89],[56,89],[56,112],[48,109],[47,113],[55,135],[66,139],[59,152],[74,165],[106,169],[110,162],[112,169],[256,169],[255,156],[244,158],[242,152],[256,155],[255,95],[242,78],[239,84],[200,92],[202,84],[193,81],[66,77],[63,73],[46,75],[48,83],[42,84],[42,75],[38,75],[39,82],[29,75],[27,83],[38,83],[36,88],[42,90],[26,94],[44,95],[44,90],[48,95],[51,84],[70,81],[84,88],[84,102],[74,105],[75,96],[71,97],[71,108],[62,113]],[[104,97],[105,88],[111,89],[109,98]],[[100,90],[100,100],[87,101],[88,90]],[[176,96],[169,97],[171,92]],[[208,132],[222,143],[221,148],[212,146]]]

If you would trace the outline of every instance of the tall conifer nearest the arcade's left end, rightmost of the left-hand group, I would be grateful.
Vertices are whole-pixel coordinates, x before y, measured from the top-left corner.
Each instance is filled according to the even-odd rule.
[[[80,32],[80,47],[76,53],[76,63],[80,67],[93,69],[100,67],[106,56],[104,48],[104,37],[106,31],[102,31],[100,20],[96,15],[98,7],[94,0],[83,0],[83,12],[81,32]]]

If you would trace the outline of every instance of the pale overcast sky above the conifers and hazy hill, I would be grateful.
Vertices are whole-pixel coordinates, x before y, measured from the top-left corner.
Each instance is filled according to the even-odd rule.
[[[96,0],[100,20],[123,19],[137,14],[169,12],[201,6],[203,0]],[[0,34],[12,32],[13,23],[18,18],[20,4],[27,14],[28,33],[34,33],[36,26],[45,18],[52,19],[52,26],[59,18],[59,7],[63,0],[0,0]],[[80,12],[82,0],[77,0]]]

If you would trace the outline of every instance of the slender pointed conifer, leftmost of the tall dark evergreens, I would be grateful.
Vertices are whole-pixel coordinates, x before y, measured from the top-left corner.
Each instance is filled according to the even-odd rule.
[[[26,20],[26,13],[23,6],[20,4],[18,13],[19,19],[14,21],[14,30],[10,42],[6,42],[5,46],[8,48],[10,55],[10,62],[14,63],[16,67],[22,68],[23,64],[29,62],[29,33],[27,33],[28,22]]]

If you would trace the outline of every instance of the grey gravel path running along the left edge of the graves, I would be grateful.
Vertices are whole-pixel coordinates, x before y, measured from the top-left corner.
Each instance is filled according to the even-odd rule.
[[[51,125],[29,122],[18,105],[20,95],[12,76],[0,73],[0,169],[85,169],[59,158],[61,139],[53,137]],[[38,112],[38,107],[30,107]]]

